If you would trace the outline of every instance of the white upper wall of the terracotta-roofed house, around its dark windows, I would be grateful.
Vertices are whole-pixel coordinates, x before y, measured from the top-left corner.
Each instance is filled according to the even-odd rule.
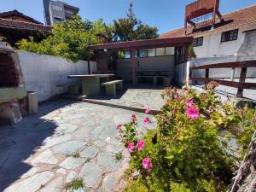
[[[241,26],[239,28],[238,37],[235,41],[221,43],[221,33],[214,32],[203,35],[203,46],[194,47],[197,58],[204,57],[220,57],[220,56],[234,56],[237,55],[238,49],[241,47],[244,38],[244,31],[255,29],[256,25]],[[236,28],[234,28],[236,29]],[[230,29],[226,30],[230,31]],[[202,36],[195,36],[194,38],[200,38]]]

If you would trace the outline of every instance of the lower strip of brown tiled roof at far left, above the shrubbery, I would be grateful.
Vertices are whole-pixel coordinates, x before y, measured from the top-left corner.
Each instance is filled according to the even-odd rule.
[[[16,29],[23,29],[28,31],[38,31],[38,32],[49,32],[52,29],[51,26],[44,26],[41,24],[34,24],[34,23],[18,21],[18,20],[7,20],[3,18],[0,18],[0,27],[16,28]]]

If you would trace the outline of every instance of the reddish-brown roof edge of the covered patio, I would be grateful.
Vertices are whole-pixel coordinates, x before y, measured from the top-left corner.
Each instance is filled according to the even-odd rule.
[[[148,40],[137,40],[137,41],[126,41],[119,43],[110,43],[110,44],[96,44],[90,45],[89,48],[92,50],[101,50],[101,49],[149,49],[149,48],[161,48],[161,47],[178,47],[189,45],[193,41],[192,37],[183,37],[183,38],[155,38]]]

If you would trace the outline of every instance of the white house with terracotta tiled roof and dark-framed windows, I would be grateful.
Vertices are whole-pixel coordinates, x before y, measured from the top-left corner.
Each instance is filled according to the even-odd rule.
[[[193,47],[197,58],[236,56],[245,33],[256,30],[256,4],[222,15],[212,28],[210,20],[197,23],[193,30],[189,26],[186,36],[193,36]],[[160,38],[184,36],[184,27],[166,32]]]

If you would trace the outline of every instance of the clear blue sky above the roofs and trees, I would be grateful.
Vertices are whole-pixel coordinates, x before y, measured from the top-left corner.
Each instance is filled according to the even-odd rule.
[[[129,0],[63,0],[80,8],[83,19],[103,18],[107,23],[125,16]],[[134,0],[138,19],[159,28],[159,33],[183,26],[184,8],[194,0]],[[221,13],[255,4],[256,0],[220,0]],[[17,9],[21,13],[44,22],[43,0],[0,0],[0,12]]]

